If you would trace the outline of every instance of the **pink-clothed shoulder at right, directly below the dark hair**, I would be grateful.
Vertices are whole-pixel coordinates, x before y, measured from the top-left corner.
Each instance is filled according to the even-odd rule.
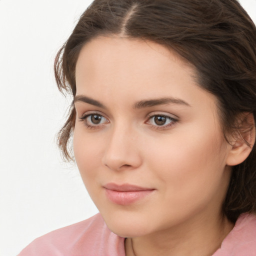
[[[243,213],[213,256],[256,256],[256,214]]]

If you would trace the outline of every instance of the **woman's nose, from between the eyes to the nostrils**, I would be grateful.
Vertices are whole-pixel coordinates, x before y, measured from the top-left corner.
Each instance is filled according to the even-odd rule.
[[[111,170],[135,169],[142,163],[139,139],[131,128],[120,125],[111,130],[102,163]]]

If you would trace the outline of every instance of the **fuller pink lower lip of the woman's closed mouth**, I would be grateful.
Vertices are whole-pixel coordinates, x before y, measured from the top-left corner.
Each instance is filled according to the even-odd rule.
[[[139,191],[116,191],[105,189],[107,198],[113,203],[120,205],[128,205],[136,202],[153,192],[152,190],[139,190]]]

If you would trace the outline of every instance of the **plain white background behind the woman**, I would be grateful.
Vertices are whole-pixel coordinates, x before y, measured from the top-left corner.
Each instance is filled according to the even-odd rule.
[[[91,0],[0,0],[0,256],[97,212],[55,145],[70,102],[53,59]],[[241,0],[256,21],[256,0]]]

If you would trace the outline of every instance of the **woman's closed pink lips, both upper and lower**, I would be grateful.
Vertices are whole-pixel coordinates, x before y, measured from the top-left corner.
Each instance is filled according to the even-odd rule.
[[[119,205],[128,205],[142,200],[151,194],[155,189],[141,187],[133,184],[115,184],[107,183],[103,186],[106,197],[113,203]]]

